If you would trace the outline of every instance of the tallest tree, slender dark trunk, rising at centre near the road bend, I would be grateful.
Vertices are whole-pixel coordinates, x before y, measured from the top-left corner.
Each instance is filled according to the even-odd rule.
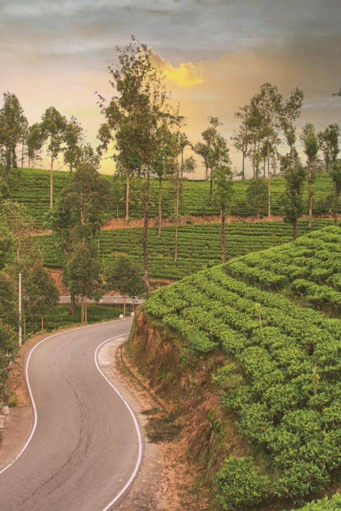
[[[117,95],[104,106],[100,97],[101,111],[110,131],[115,133],[119,152],[135,160],[146,174],[144,186],[144,225],[142,244],[144,252],[144,283],[150,292],[148,257],[149,189],[152,161],[158,153],[164,126],[176,123],[168,105],[169,94],[165,90],[163,75],[151,61],[151,51],[132,37],[125,48],[118,48],[118,62],[110,66],[110,83]]]

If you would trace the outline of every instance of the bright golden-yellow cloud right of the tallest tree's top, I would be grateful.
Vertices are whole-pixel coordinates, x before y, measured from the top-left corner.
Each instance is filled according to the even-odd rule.
[[[203,82],[200,63],[185,62],[181,63],[179,67],[174,67],[168,60],[156,53],[153,53],[153,62],[160,67],[169,80],[176,82],[180,87],[192,87]]]

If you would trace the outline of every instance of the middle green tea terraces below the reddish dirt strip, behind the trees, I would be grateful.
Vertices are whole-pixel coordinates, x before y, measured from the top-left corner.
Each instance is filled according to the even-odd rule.
[[[331,225],[330,220],[314,220],[312,229]],[[299,223],[299,234],[311,230],[306,220]],[[103,230],[100,239],[100,262],[103,267],[117,253],[129,254],[141,262],[143,249],[142,229]],[[235,222],[226,224],[226,255],[229,258],[251,251],[280,245],[291,240],[291,227],[283,222]],[[63,253],[57,238],[37,236],[43,253],[44,265],[61,267]],[[195,271],[210,268],[220,262],[220,224],[180,225],[178,227],[178,260],[174,262],[174,227],[165,227],[160,238],[157,229],[149,229],[150,272],[153,278],[177,280]]]

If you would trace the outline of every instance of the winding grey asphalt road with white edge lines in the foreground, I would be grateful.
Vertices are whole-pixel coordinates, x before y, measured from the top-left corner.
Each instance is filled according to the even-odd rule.
[[[140,468],[141,433],[100,372],[97,351],[131,322],[70,330],[33,347],[26,375],[35,421],[24,451],[0,470],[1,509],[111,511],[124,499]]]

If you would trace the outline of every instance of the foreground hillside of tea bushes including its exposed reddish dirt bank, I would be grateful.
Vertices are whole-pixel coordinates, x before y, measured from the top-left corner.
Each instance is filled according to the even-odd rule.
[[[326,227],[155,291],[137,317],[129,353],[152,385],[169,393],[175,388],[187,409],[193,393],[194,408],[203,407],[200,385],[190,383],[196,379],[209,387],[209,403],[215,403],[212,392],[220,396],[206,416],[192,419],[201,424],[197,450],[204,453],[209,477],[215,467],[219,509],[290,508],[337,487],[340,316],[281,293],[299,288],[304,303],[319,309],[310,286],[322,285],[330,289],[330,304],[339,293],[340,255],[341,227]],[[295,284],[299,278],[304,285]],[[152,344],[156,331],[162,350]],[[143,349],[149,357],[144,355],[144,366]],[[205,436],[207,417],[211,433]]]

